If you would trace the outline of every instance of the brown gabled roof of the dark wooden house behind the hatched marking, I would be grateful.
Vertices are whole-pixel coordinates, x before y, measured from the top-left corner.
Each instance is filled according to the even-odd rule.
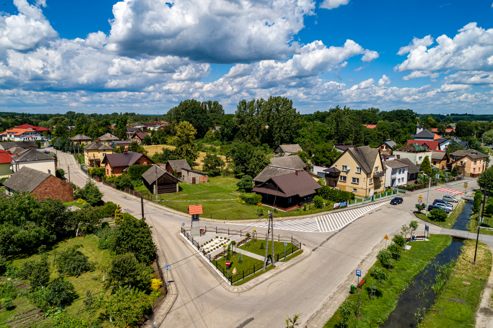
[[[267,188],[271,182],[279,188],[277,190]],[[260,186],[253,188],[252,191],[277,195],[279,197],[291,197],[295,195],[305,197],[317,193],[317,190],[320,188],[322,186],[306,171],[296,171],[295,173],[272,177]]]

